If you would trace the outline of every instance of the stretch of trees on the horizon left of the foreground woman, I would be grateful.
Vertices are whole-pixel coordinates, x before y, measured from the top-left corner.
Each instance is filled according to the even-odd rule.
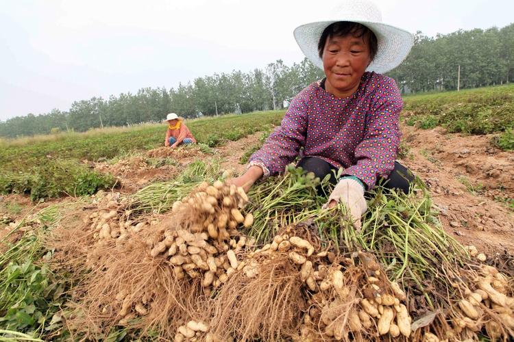
[[[185,118],[282,109],[284,101],[323,76],[310,61],[286,66],[282,60],[264,70],[232,71],[199,77],[177,88],[143,88],[108,99],[75,101],[68,111],[28,114],[0,122],[0,137],[87,131],[98,127],[159,122],[173,111]]]

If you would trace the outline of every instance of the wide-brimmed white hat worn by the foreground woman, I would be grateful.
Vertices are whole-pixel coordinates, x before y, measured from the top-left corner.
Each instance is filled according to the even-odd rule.
[[[365,25],[374,32],[378,49],[367,71],[386,73],[397,67],[407,57],[414,43],[414,36],[404,29],[382,23],[382,14],[377,6],[368,0],[345,0],[330,12],[332,20],[317,21],[297,27],[295,39],[304,55],[315,66],[323,69],[319,58],[318,42],[323,30],[338,21],[352,21]]]

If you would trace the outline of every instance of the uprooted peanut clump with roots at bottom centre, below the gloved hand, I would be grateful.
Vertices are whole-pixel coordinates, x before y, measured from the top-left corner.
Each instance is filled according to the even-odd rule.
[[[396,334],[391,324],[393,308],[401,332],[410,334],[410,317],[400,304],[406,296],[397,284],[389,283],[371,254],[354,254],[360,262],[344,258],[321,250],[319,239],[311,244],[308,239],[315,236],[308,232],[306,239],[289,235],[295,233],[302,230],[277,235],[271,244],[249,252],[241,261],[245,266],[211,304],[210,334],[215,339],[223,341],[234,334],[241,340],[339,341],[351,334],[354,339],[369,340],[376,336],[377,326],[381,334],[393,326],[391,335],[397,337],[400,330],[396,326]]]

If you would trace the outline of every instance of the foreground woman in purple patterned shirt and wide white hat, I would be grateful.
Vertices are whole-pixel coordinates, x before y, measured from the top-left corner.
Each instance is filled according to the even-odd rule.
[[[383,24],[369,1],[348,1],[340,13],[339,20],[295,29],[299,47],[326,77],[293,98],[280,127],[252,155],[245,174],[232,182],[247,191],[260,177],[283,172],[303,148],[298,166],[320,179],[330,174],[335,185],[325,206],[343,202],[360,228],[367,210],[365,191],[383,179],[385,187],[408,192],[413,179],[395,162],[400,91],[393,79],[378,73],[404,60],[413,36]]]

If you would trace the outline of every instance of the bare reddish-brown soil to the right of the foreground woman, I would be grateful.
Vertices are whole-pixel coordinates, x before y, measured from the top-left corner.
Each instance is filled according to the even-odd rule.
[[[428,185],[445,230],[488,252],[514,252],[514,153],[491,146],[494,135],[402,128],[402,162]]]

